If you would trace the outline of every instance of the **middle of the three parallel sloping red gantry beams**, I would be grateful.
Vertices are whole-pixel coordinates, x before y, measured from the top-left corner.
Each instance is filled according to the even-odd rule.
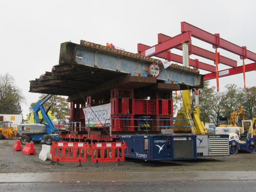
[[[172,38],[172,37],[164,35],[162,33],[157,34],[157,37],[158,37],[158,43],[162,43],[162,42]],[[178,47],[174,47],[174,48],[182,51],[182,46],[178,46]],[[203,57],[205,59],[215,61],[215,53],[214,52],[208,51],[206,49],[202,49],[195,45],[192,45],[192,54]],[[221,55],[220,55],[220,63],[222,63],[224,65],[228,65],[230,67],[237,67],[236,60],[232,60],[232,59],[229,59],[229,58],[221,56]]]

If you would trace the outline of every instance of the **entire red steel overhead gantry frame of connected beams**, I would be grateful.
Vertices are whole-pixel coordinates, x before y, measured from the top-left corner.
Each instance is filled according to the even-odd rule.
[[[211,34],[209,32],[206,32],[200,28],[197,28],[193,25],[190,25],[187,22],[181,22],[181,34],[171,37],[164,34],[159,33],[158,34],[158,42],[154,46],[148,46],[145,44],[138,44],[138,52],[141,55],[146,56],[146,51],[149,49],[154,49],[155,51],[151,53],[150,57],[156,56],[165,60],[172,60],[177,63],[182,63],[182,56],[171,53],[171,49],[179,49],[182,50],[182,43],[189,43],[189,55],[194,54],[200,57],[203,57],[205,59],[209,59],[212,61],[215,61],[215,53],[202,49],[200,47],[197,47],[195,45],[191,44],[191,36],[195,37],[199,40],[202,40],[206,43],[212,44],[213,48],[221,48],[226,51],[232,52],[234,54],[237,54],[240,56],[240,59],[249,59],[252,61],[256,61],[256,53],[248,51],[246,47],[238,46],[236,44],[230,43],[222,38],[220,38],[219,34]],[[189,35],[191,35],[189,37]],[[242,66],[237,67],[237,61],[229,59],[227,57],[224,57],[222,55],[219,55],[218,58],[219,62],[221,64],[227,65],[232,68],[228,68],[225,70],[219,71],[219,77],[223,76],[230,76],[235,75],[239,73],[243,73]],[[206,64],[203,62],[200,62],[198,59],[190,59],[190,66],[194,68],[203,69],[206,71],[209,71],[211,73],[208,73],[205,75],[204,80],[214,79],[216,78],[216,67],[215,65]],[[256,63],[251,63],[245,65],[245,72],[253,71],[256,69]]]

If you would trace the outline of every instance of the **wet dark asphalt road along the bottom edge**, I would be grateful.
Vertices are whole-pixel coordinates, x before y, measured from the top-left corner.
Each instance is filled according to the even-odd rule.
[[[1,183],[0,191],[9,192],[208,192],[208,191],[255,191],[256,180],[208,180],[208,181],[144,181],[144,182],[39,182],[39,183]]]

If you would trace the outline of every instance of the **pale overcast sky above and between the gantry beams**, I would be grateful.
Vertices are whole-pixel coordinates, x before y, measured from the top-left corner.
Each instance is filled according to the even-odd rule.
[[[137,52],[137,43],[154,45],[157,34],[175,36],[186,21],[210,33],[220,33],[239,46],[256,52],[255,1],[0,1],[0,74],[15,77],[26,103],[23,115],[39,94],[29,93],[29,80],[39,78],[58,64],[60,43],[81,39],[107,42]],[[192,44],[214,51],[212,45],[192,39]],[[238,55],[218,50],[221,55],[242,61]],[[172,50],[182,54],[181,51]],[[213,61],[192,55],[191,59],[213,65]],[[245,63],[252,63],[245,60]],[[220,65],[220,70],[229,68]],[[200,71],[205,74],[205,71]],[[255,86],[256,72],[246,73],[247,87]],[[243,87],[243,74],[220,78],[226,84]],[[216,85],[216,80],[211,80]]]

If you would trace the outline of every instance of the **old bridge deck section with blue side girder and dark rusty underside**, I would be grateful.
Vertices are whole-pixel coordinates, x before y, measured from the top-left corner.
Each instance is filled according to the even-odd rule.
[[[160,76],[157,78],[148,75],[148,67],[152,63],[160,67]],[[131,79],[131,73],[148,76]],[[196,69],[177,64],[164,69],[160,60],[81,40],[80,44],[66,42],[60,45],[59,65],[30,81],[30,92],[73,96],[78,93],[77,90],[90,92],[103,83],[113,84],[116,79],[119,83],[120,78],[123,82],[120,86],[127,88],[134,88],[134,84],[142,87],[163,84],[165,81],[178,82],[181,90],[203,87],[203,75]]]

